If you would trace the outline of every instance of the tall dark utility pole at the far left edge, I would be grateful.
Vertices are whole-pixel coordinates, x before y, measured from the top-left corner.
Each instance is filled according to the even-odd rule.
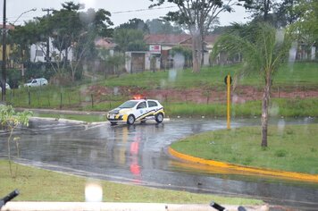
[[[5,54],[6,54],[6,0],[4,0],[4,24],[3,24],[3,31],[2,31],[2,92],[1,92],[1,100],[5,102]]]

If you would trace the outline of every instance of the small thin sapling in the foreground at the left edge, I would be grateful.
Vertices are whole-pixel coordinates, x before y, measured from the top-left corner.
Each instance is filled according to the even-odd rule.
[[[8,159],[10,164],[10,175],[15,178],[17,175],[17,170],[15,174],[13,174],[13,169],[11,165],[11,148],[10,143],[14,140],[15,148],[17,151],[17,157],[20,156],[19,153],[19,138],[13,138],[13,131],[18,127],[18,125],[28,125],[29,124],[29,116],[32,113],[29,111],[24,111],[22,113],[15,113],[12,105],[0,105],[0,126],[4,128],[4,130],[9,131],[9,137],[7,139],[8,146]]]

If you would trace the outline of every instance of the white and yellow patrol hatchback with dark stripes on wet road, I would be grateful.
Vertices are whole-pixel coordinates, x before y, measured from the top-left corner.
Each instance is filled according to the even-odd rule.
[[[160,123],[163,122],[163,117],[163,105],[155,99],[129,100],[107,114],[107,120],[112,125],[118,122],[133,124],[136,121],[146,122],[147,120]]]

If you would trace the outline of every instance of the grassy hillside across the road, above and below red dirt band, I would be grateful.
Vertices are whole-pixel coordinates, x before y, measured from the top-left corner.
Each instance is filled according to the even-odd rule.
[[[109,77],[97,83],[87,83],[74,87],[46,86],[35,89],[13,89],[7,92],[7,103],[15,107],[75,109],[84,111],[109,111],[128,100],[133,93],[142,93],[146,89],[225,89],[224,77],[234,74],[241,65],[226,65],[202,68],[200,73],[191,70],[141,72]],[[273,90],[289,91],[318,89],[317,63],[294,63],[280,68],[274,76]],[[259,72],[251,72],[241,78],[239,85],[252,86],[262,90],[263,79]],[[124,93],[96,93],[92,86],[101,86],[113,90],[121,89]],[[92,98],[93,97],[93,98]],[[62,100],[61,100],[62,99]],[[92,102],[93,101],[93,102]],[[211,101],[211,100],[210,100]],[[162,102],[170,116],[225,116],[226,107],[221,104],[190,104],[187,102]],[[317,98],[275,99],[272,98],[272,114],[283,116],[318,116]],[[277,112],[278,111],[278,112]],[[241,105],[232,105],[233,116],[260,115],[261,102],[249,101]]]

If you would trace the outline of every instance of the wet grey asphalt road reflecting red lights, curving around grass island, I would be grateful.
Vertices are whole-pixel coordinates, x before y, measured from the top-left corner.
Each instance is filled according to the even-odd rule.
[[[231,127],[259,124],[258,119],[236,120]],[[272,124],[312,123],[316,119],[274,120]],[[224,120],[172,120],[156,124],[82,124],[32,121],[17,131],[22,164],[75,173],[109,181],[228,196],[261,198],[277,205],[318,209],[318,185],[273,178],[229,175],[184,163],[166,152],[173,142],[191,134],[226,128]],[[0,131],[0,138],[7,134]],[[0,141],[0,156],[5,155]],[[213,198],[211,198],[213,200]]]

